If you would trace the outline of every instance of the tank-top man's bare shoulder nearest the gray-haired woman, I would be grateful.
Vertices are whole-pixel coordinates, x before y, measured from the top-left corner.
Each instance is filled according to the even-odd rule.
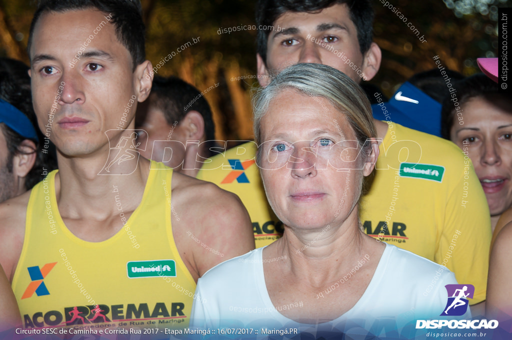
[[[201,277],[211,267],[254,249],[249,214],[237,195],[217,185],[173,174],[173,235],[191,274]]]

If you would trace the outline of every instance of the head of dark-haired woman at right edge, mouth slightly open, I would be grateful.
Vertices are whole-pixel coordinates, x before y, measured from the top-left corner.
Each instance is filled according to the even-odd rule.
[[[482,73],[455,88],[443,103],[441,133],[462,149],[468,166],[473,163],[494,230],[512,206],[512,99]]]

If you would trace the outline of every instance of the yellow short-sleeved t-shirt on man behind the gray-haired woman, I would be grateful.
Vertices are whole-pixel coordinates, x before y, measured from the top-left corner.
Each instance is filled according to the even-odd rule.
[[[234,173],[233,159],[254,160],[256,150],[249,142],[216,155],[203,165],[198,178],[239,195],[253,226],[261,226],[274,215],[257,166],[232,175],[243,173],[246,182],[222,183]],[[471,160],[450,141],[394,123],[379,151],[373,183],[359,205],[364,231],[376,239],[380,233],[382,241],[444,264],[460,284],[475,286],[471,304],[485,300],[490,214]],[[261,247],[258,235],[255,232]],[[433,288],[429,286],[425,290]]]

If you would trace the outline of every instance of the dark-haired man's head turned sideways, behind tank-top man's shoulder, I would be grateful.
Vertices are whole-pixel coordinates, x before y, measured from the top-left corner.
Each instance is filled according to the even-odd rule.
[[[210,105],[202,93],[178,77],[153,79],[150,97],[137,108],[135,126],[142,130],[138,140],[148,144],[142,156],[185,175],[196,177],[200,159],[214,155]]]

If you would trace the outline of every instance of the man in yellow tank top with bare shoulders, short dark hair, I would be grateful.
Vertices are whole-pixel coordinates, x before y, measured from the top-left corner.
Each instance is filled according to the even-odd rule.
[[[139,155],[135,111],[152,85],[140,2],[41,1],[28,50],[59,170],[0,205],[23,326],[186,328],[197,279],[254,241],[234,195]]]

